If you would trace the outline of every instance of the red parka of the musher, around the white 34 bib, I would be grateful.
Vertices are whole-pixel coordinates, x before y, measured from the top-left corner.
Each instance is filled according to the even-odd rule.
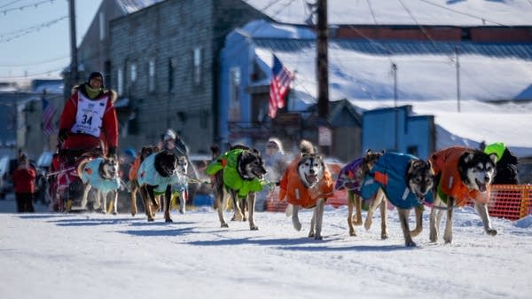
[[[117,147],[118,121],[116,117],[116,111],[114,110],[113,106],[113,103],[116,99],[116,94],[113,90],[105,90],[100,92],[98,97],[93,99],[99,100],[105,97],[109,98],[107,100],[104,117],[102,119],[102,128],[99,138],[89,134],[74,133],[71,131],[75,123],[79,92],[82,92],[85,98],[89,98],[89,96],[87,96],[87,92],[85,91],[85,84],[74,88],[73,94],[68,101],[66,101],[63,113],[59,118],[59,130],[67,130],[69,134],[68,138],[66,138],[65,143],[63,144],[63,148],[92,150],[100,147],[100,140],[105,146],[105,149],[109,148],[110,146]]]

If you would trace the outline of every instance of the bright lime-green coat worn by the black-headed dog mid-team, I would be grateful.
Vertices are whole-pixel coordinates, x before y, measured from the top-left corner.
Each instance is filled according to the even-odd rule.
[[[244,149],[236,148],[223,153],[218,159],[208,164],[205,173],[208,176],[215,176],[218,171],[223,169],[223,185],[238,192],[239,198],[245,198],[247,194],[262,191],[262,186],[266,182],[254,177],[253,179],[244,179],[239,174],[239,156]]]

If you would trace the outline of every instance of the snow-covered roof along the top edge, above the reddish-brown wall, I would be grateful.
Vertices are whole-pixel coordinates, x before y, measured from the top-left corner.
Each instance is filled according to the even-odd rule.
[[[316,3],[244,1],[271,19],[288,24],[306,24],[315,10],[308,3]],[[528,0],[328,0],[327,10],[328,23],[332,25],[532,25],[532,4]]]

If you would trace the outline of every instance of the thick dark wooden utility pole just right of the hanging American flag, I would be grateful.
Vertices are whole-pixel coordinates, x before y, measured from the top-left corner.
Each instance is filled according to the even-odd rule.
[[[329,62],[327,26],[327,0],[317,0],[317,140],[318,145],[330,154],[332,146],[332,129],[329,125]]]

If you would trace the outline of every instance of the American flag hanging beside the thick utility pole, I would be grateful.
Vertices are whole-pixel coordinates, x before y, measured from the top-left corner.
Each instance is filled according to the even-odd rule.
[[[290,90],[293,73],[290,72],[277,56],[273,55],[273,67],[271,68],[270,82],[270,112],[271,118],[277,116],[277,110],[285,106],[285,97]]]

